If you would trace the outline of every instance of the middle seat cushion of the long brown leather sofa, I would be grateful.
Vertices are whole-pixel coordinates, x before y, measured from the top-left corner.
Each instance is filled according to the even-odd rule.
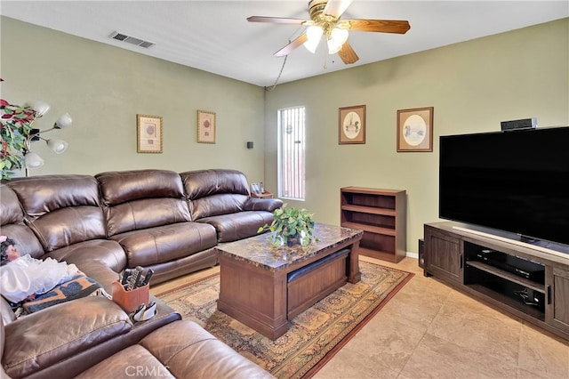
[[[111,238],[123,247],[129,268],[170,262],[217,244],[217,235],[212,225],[199,222],[180,222],[146,230],[132,230]]]

